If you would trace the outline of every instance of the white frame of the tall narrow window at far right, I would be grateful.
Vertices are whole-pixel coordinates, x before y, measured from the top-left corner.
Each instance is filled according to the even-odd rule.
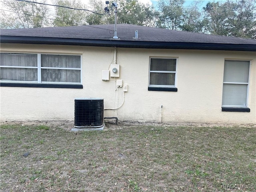
[[[251,62],[250,60],[230,60],[230,59],[225,59],[224,61],[224,67],[225,67],[225,62],[226,61],[237,61],[237,62],[249,62],[249,70],[248,70],[248,82],[244,83],[244,82],[224,82],[224,73],[223,73],[223,87],[224,84],[236,84],[236,85],[247,85],[247,92],[246,92],[246,105],[223,105],[222,107],[228,107],[228,108],[248,108],[248,98],[249,98],[249,85],[250,85],[250,66],[251,66]],[[223,99],[223,87],[222,87],[222,99]]]

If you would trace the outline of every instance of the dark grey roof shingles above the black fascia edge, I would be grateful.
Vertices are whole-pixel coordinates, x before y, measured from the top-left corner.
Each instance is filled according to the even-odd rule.
[[[138,30],[138,39],[134,39]],[[68,26],[1,30],[1,36],[31,36],[45,38],[70,38],[88,40],[113,40],[114,24],[94,26]],[[122,41],[183,42],[207,44],[255,44],[256,40],[200,34],[186,31],[152,28],[131,24],[118,24],[117,36]]]

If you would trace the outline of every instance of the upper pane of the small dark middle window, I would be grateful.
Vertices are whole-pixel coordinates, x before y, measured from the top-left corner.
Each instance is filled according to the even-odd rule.
[[[176,59],[151,58],[151,71],[176,71]]]

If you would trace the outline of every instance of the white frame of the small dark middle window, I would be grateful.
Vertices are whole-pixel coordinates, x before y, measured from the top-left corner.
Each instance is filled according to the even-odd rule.
[[[151,59],[175,59],[176,60],[176,66],[175,71],[151,71]],[[148,72],[148,87],[163,87],[163,88],[176,88],[177,84],[177,64],[178,64],[178,58],[176,57],[150,57],[149,58],[149,72]],[[150,85],[150,73],[174,73],[174,85]]]

